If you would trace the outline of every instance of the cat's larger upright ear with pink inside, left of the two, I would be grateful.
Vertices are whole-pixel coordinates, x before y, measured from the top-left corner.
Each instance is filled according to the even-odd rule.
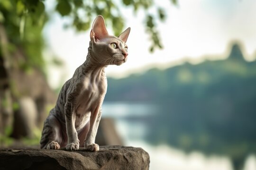
[[[92,29],[91,29],[91,40],[92,38],[101,40],[102,38],[108,37],[109,33],[107,31],[106,25],[104,18],[101,15],[98,15],[93,24],[92,24]]]

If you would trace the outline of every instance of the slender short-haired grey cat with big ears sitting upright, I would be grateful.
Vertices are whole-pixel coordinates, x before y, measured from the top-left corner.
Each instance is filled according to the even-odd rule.
[[[101,119],[101,105],[107,91],[105,67],[127,61],[130,27],[118,37],[108,34],[104,18],[95,18],[88,55],[71,79],[63,85],[55,108],[44,122],[40,148],[78,150],[79,145],[99,151],[95,136]],[[84,140],[84,141],[83,141]]]

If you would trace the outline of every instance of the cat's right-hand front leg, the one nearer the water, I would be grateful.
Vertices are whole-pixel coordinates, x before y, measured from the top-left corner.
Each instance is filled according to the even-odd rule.
[[[97,107],[91,114],[90,129],[84,140],[84,148],[89,151],[99,151],[100,147],[95,144],[95,137],[101,120],[101,107]]]

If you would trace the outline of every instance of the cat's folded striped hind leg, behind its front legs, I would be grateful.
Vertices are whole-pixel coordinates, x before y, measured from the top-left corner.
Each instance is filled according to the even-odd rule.
[[[51,110],[51,112],[52,111],[53,110]],[[40,140],[41,149],[60,149],[60,144],[63,142],[63,137],[61,136],[61,124],[51,112],[44,122]]]

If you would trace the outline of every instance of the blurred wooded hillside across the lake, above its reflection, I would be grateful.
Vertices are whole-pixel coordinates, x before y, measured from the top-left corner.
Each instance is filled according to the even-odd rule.
[[[166,70],[155,68],[143,75],[123,79],[108,78],[105,101],[170,102],[188,94],[203,97],[209,88],[218,88],[217,84],[222,87],[225,83],[225,87],[230,87],[230,92],[243,90],[236,89],[238,85],[232,81],[244,87],[249,83],[247,81],[255,77],[256,62],[247,62],[239,46],[234,45],[226,60],[205,61],[198,65],[185,63]]]

